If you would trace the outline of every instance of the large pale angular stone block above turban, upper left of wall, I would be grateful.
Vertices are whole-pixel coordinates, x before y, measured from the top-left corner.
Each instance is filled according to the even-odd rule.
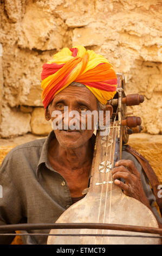
[[[27,5],[21,27],[18,45],[22,48],[43,51],[63,46],[63,21],[60,18],[55,19],[52,13],[46,9],[42,10],[36,4]]]

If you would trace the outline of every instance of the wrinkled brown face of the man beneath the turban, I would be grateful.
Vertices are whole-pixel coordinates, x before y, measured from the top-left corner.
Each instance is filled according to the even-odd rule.
[[[66,107],[66,109],[68,107],[68,111],[64,112],[64,107]],[[95,129],[93,115],[92,129],[87,129],[87,118],[85,119],[86,129],[81,129],[81,121],[83,120],[81,117],[83,116],[83,111],[98,111],[96,97],[92,94],[92,92],[90,92],[88,88],[68,86],[67,88],[63,89],[60,93],[56,94],[52,105],[49,107],[51,121],[54,121],[55,119],[54,117],[52,117],[52,113],[54,113],[54,111],[60,111],[60,113],[62,113],[59,119],[59,122],[61,121],[62,123],[62,130],[54,130],[54,132],[57,141],[63,148],[75,149],[82,147],[82,145],[84,145],[92,137]],[[71,122],[72,124],[75,117],[68,117],[67,121],[67,114],[71,111],[77,111],[77,117],[80,116],[79,129],[77,130],[69,129],[69,123]],[[66,127],[66,129],[64,129],[64,124],[66,124],[68,128]],[[76,122],[74,123],[74,125],[75,124]]]

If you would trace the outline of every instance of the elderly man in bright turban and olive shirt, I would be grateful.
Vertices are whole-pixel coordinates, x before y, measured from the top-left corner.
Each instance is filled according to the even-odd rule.
[[[77,111],[104,111],[112,114],[107,100],[116,93],[116,75],[107,59],[83,46],[64,48],[43,65],[42,99],[47,120],[63,124],[46,139],[17,146],[5,157],[0,180],[0,224],[54,223],[73,203],[83,197],[89,186],[93,159],[94,129],[70,129],[64,108]],[[58,112],[59,111],[59,112]],[[92,120],[93,121],[93,120]],[[80,124],[80,123],[79,123]],[[123,151],[122,159],[113,169],[114,184],[127,196],[138,199],[161,218],[153,206],[155,197],[142,167],[134,156]],[[129,167],[129,170],[126,168]],[[139,175],[140,173],[140,175]],[[124,179],[125,182],[119,180]],[[31,230],[30,233],[49,230]],[[23,232],[22,232],[23,233]],[[27,233],[27,231],[24,231]],[[22,236],[25,244],[46,244],[47,236]],[[1,243],[13,237],[0,236]]]

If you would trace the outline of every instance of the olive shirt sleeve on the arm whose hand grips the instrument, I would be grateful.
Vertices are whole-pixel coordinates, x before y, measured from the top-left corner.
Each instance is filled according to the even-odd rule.
[[[144,170],[142,169],[141,164],[139,163],[139,161],[130,153],[126,152],[125,150],[122,151],[122,159],[125,160],[132,160],[134,162],[135,167],[138,169],[140,175],[141,175],[141,182],[142,182],[142,186],[144,188],[144,192],[146,194],[146,197],[148,198],[148,201],[151,205],[152,211],[154,212],[155,217],[157,217],[157,220],[162,224],[162,218],[158,213],[157,208],[154,206],[155,205],[155,196],[152,192],[152,189],[149,185],[149,181],[148,178],[144,172]]]

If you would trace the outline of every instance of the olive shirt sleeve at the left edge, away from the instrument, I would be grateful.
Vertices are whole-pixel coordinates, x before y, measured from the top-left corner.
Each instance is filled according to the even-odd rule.
[[[17,191],[16,184],[12,182],[12,178],[9,176],[11,169],[12,172],[15,172],[16,174],[16,169],[12,166],[12,157],[6,156],[0,168],[0,225],[20,223],[23,217],[20,192]],[[12,231],[0,231],[0,233],[12,233]],[[1,234],[0,244],[2,245],[10,244],[14,239],[14,236],[5,236]]]

